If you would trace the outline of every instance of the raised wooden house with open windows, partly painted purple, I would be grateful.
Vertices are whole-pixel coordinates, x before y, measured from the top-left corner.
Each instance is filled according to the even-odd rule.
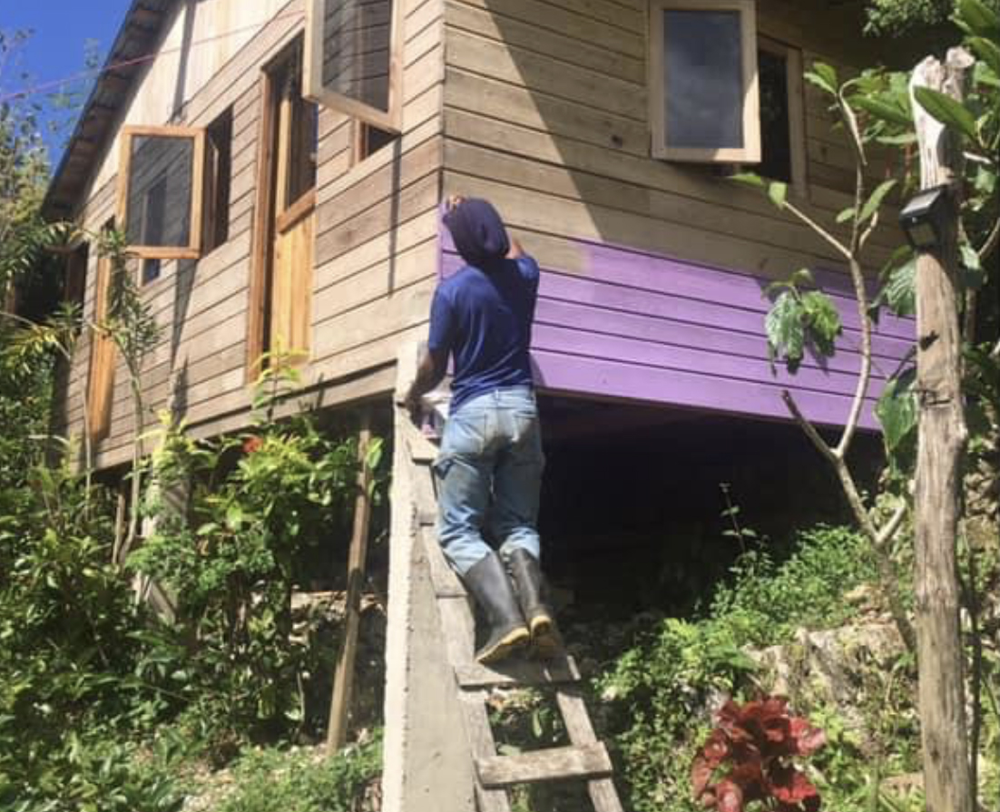
[[[46,213],[127,234],[164,328],[148,419],[173,387],[200,435],[246,423],[278,351],[324,406],[387,402],[459,264],[439,213],[452,193],[490,199],[543,268],[544,393],[787,419],[787,386],[837,425],[858,367],[841,258],[725,175],[759,167],[824,222],[850,204],[850,152],[801,74],[874,58],[855,6],[134,0]],[[873,264],[896,241],[878,235]],[[106,265],[81,246],[68,269],[98,320]],[[843,292],[846,330],[793,378],[769,368],[762,291],[799,267]],[[872,397],[911,332],[878,325]],[[129,454],[127,380],[109,342],[83,344],[67,428],[86,398],[107,468]]]

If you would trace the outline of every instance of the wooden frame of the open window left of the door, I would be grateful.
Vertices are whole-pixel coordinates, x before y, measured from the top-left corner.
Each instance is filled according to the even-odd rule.
[[[159,138],[187,138],[193,141],[191,157],[191,223],[190,238],[186,246],[134,245],[126,251],[140,259],[198,259],[202,244],[202,207],[205,188],[205,130],[203,127],[173,125],[126,125],[121,129],[121,162],[118,170],[118,222],[128,233],[128,186],[132,169],[132,139],[136,136]]]

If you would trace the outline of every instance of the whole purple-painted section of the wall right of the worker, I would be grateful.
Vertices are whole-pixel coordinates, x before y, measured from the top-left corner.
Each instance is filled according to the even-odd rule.
[[[444,276],[462,266],[442,230]],[[549,267],[544,257],[532,341],[543,391],[625,398],[713,412],[790,419],[789,389],[812,421],[842,425],[860,365],[858,316],[843,274],[817,281],[840,309],[836,354],[807,357],[796,375],[767,361],[763,297],[768,280],[631,248],[576,241],[584,270]],[[910,320],[885,317],[873,338],[873,381],[862,425],[912,345]]]

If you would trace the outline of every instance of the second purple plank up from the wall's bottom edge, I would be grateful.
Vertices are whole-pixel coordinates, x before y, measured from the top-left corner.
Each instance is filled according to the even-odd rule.
[[[728,378],[749,383],[770,381],[775,385],[797,390],[854,394],[857,375],[843,372],[825,373],[818,369],[800,369],[797,375],[779,370],[771,375],[766,361],[737,358],[723,353],[670,347],[620,336],[595,335],[563,327],[536,325],[532,349],[567,355],[582,355],[604,361],[658,367],[677,371],[694,371],[713,378]],[[870,396],[877,397],[882,383],[872,382]]]

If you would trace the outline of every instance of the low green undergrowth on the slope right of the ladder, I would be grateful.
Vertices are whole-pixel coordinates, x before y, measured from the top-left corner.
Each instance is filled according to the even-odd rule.
[[[688,767],[711,730],[710,708],[722,697],[758,692],[758,666],[747,651],[788,644],[801,627],[848,620],[857,610],[844,594],[876,572],[866,540],[842,527],[800,533],[780,563],[751,548],[700,617],[663,620],[619,657],[597,688],[611,706],[613,747],[636,812],[700,808],[690,797]],[[844,756],[831,773],[835,781],[850,771],[864,774],[862,752],[835,749],[834,756]],[[831,795],[831,808],[846,797],[844,783]],[[863,807],[841,812],[855,810]]]

